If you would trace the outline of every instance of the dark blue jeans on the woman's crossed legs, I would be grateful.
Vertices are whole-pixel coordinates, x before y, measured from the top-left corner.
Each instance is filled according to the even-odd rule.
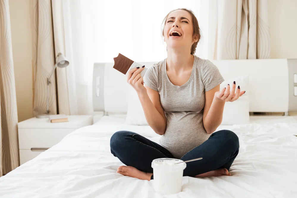
[[[161,145],[129,131],[114,133],[110,139],[110,149],[111,153],[125,165],[151,173],[153,173],[151,164],[154,159],[175,158]],[[194,177],[220,168],[229,170],[238,151],[239,142],[235,133],[229,130],[214,132],[208,140],[180,158],[183,161],[203,158],[202,160],[188,162],[183,175]]]

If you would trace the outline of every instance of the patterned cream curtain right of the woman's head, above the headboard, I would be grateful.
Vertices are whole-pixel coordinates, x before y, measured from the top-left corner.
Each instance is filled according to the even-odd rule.
[[[209,1],[210,59],[270,58],[267,0]]]

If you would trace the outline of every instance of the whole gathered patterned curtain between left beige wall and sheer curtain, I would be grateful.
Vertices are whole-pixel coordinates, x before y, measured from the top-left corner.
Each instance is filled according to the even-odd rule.
[[[46,78],[55,65],[55,57],[59,52],[65,54],[63,1],[34,0],[33,1],[33,113],[34,115],[46,112],[47,84]],[[51,114],[70,115],[69,98],[67,91],[67,68],[57,68],[56,75],[52,75],[49,88],[49,110]],[[57,82],[57,90],[56,90]],[[58,103],[57,98],[58,96]]]

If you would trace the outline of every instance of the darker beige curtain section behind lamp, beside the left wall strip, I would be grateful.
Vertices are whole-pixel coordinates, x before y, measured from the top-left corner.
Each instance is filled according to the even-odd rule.
[[[55,64],[51,0],[33,1],[33,114],[46,112],[46,78]],[[56,82],[51,76],[49,110],[56,114]]]

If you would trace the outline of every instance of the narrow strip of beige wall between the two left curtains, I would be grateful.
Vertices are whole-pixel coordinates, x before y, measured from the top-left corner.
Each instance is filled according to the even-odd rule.
[[[32,0],[9,0],[18,121],[33,117]]]

